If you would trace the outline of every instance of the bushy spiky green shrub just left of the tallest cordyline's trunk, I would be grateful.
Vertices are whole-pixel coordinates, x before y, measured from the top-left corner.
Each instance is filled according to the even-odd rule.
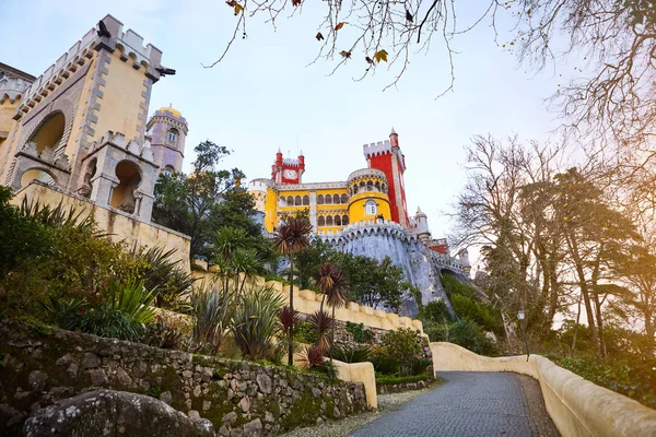
[[[278,314],[283,299],[273,288],[247,290],[234,310],[231,331],[244,356],[262,359],[271,355],[280,332]]]

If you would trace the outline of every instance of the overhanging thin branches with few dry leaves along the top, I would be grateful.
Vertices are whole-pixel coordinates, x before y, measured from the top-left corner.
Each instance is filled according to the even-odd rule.
[[[656,5],[649,0],[328,0],[313,5],[303,0],[230,0],[226,5],[235,15],[234,32],[208,67],[221,62],[239,35],[247,38],[247,22],[263,17],[276,28],[282,19],[302,20],[304,8],[323,8],[314,61],[331,62],[332,72],[356,62],[362,69],[356,80],[385,64],[393,86],[411,56],[427,54],[437,44],[450,73],[450,82],[435,88],[441,95],[454,86],[454,42],[490,26],[501,49],[536,70],[558,69],[567,57],[579,59],[578,76],[552,96],[570,133],[632,150],[655,133]],[[458,19],[465,9],[469,21]]]

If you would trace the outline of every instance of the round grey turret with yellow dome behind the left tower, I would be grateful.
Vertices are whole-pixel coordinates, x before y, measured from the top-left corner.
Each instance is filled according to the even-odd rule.
[[[164,106],[155,111],[147,128],[160,172],[180,172],[189,130],[183,114],[171,106]]]

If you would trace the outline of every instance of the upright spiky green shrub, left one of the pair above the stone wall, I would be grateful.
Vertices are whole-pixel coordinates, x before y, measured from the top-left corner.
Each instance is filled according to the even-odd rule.
[[[194,292],[191,316],[194,343],[197,350],[207,347],[210,354],[216,354],[229,327],[234,300],[235,292],[225,291],[216,282],[203,283]]]

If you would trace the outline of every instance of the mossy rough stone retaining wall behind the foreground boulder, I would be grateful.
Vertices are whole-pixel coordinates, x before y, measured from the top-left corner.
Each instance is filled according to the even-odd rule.
[[[0,322],[0,429],[91,388],[145,393],[222,436],[276,435],[366,410],[362,382]]]

